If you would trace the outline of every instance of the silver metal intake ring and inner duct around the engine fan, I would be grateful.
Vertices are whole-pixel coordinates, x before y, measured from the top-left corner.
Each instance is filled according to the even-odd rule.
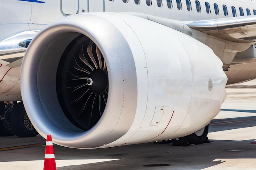
[[[110,14],[102,15],[114,18]],[[97,123],[85,130],[63,112],[56,90],[63,51],[77,37],[92,40],[108,71],[108,100]],[[115,83],[114,83],[115,82]],[[29,119],[43,137],[71,148],[103,147],[123,136],[137,108],[137,77],[132,52],[122,33],[106,18],[81,14],[63,18],[40,31],[31,41],[21,68],[21,93]]]

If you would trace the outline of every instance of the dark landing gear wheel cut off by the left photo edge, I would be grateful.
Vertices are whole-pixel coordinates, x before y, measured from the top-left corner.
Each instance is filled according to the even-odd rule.
[[[5,112],[5,103],[0,102],[0,136],[14,135],[10,126],[10,115]]]

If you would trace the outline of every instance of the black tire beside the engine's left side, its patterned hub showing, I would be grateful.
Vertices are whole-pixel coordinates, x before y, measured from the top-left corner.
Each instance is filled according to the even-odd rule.
[[[10,120],[11,128],[16,136],[34,137],[38,135],[38,132],[27,117],[23,102],[14,105],[13,110],[11,110]],[[27,123],[25,123],[25,120]]]

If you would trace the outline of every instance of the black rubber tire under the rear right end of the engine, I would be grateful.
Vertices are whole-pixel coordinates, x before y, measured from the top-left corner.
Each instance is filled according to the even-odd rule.
[[[204,132],[201,136],[198,136],[195,133],[192,133],[191,135],[185,136],[183,138],[188,140],[189,144],[194,144],[194,145],[202,144],[207,139],[208,130],[209,130],[209,124],[204,127]]]

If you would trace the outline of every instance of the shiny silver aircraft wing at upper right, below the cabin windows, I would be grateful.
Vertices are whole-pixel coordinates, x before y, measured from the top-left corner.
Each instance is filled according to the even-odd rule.
[[[187,26],[229,41],[256,41],[256,15],[200,20],[191,22]]]

